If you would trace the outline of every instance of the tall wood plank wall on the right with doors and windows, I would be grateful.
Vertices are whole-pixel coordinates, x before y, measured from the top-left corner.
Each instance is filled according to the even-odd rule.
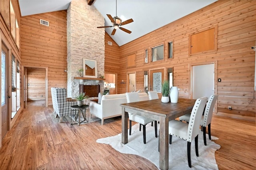
[[[213,25],[218,25],[217,51],[189,56],[189,34],[209,29]],[[174,44],[173,59],[167,59],[170,40]],[[143,82],[138,80],[143,79],[144,70],[173,67],[174,86],[180,88],[180,97],[190,98],[189,64],[217,62],[217,76],[222,78],[222,82],[216,82],[215,87],[215,93],[219,94],[218,115],[255,121],[255,51],[251,49],[255,42],[255,1],[220,0],[116,48],[115,51],[120,51],[118,82],[127,79],[127,72],[136,72],[136,86],[141,88]],[[165,46],[165,59],[144,64],[144,50],[149,49],[150,57],[151,48],[159,44]],[[136,53],[135,68],[126,66],[127,55],[131,53]],[[112,68],[115,64],[106,68]],[[126,92],[126,85],[117,84],[118,93]],[[232,106],[232,110],[228,110],[228,106]]]

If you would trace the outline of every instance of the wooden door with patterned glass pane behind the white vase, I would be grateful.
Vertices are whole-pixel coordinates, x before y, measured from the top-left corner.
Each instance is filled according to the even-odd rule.
[[[164,68],[150,71],[150,91],[162,92],[164,82]]]

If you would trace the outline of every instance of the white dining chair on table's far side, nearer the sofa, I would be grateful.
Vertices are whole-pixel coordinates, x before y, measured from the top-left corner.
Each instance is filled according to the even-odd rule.
[[[139,102],[140,98],[138,93],[136,92],[126,92],[126,100],[127,100],[127,103]],[[144,144],[146,144],[146,125],[150,122],[153,122],[154,120],[149,119],[147,117],[140,116],[140,115],[135,115],[132,113],[128,113],[128,115],[129,115],[129,135],[131,135],[131,131],[132,131],[132,121],[140,123],[140,131],[141,131],[141,125],[143,128],[143,142]],[[154,123],[155,123],[155,136],[157,137],[157,123],[156,121],[154,121]]]

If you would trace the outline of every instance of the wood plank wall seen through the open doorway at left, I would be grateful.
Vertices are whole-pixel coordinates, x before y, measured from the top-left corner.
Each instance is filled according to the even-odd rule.
[[[45,69],[27,68],[27,97],[31,100],[45,100]],[[41,97],[42,96],[42,97]]]

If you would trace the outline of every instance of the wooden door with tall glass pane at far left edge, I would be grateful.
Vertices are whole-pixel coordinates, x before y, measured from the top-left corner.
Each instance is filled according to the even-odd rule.
[[[1,109],[2,109],[2,139],[8,131],[8,102],[10,94],[8,91],[8,49],[2,43],[2,54],[1,54],[1,66],[2,66],[2,83],[1,83]]]

